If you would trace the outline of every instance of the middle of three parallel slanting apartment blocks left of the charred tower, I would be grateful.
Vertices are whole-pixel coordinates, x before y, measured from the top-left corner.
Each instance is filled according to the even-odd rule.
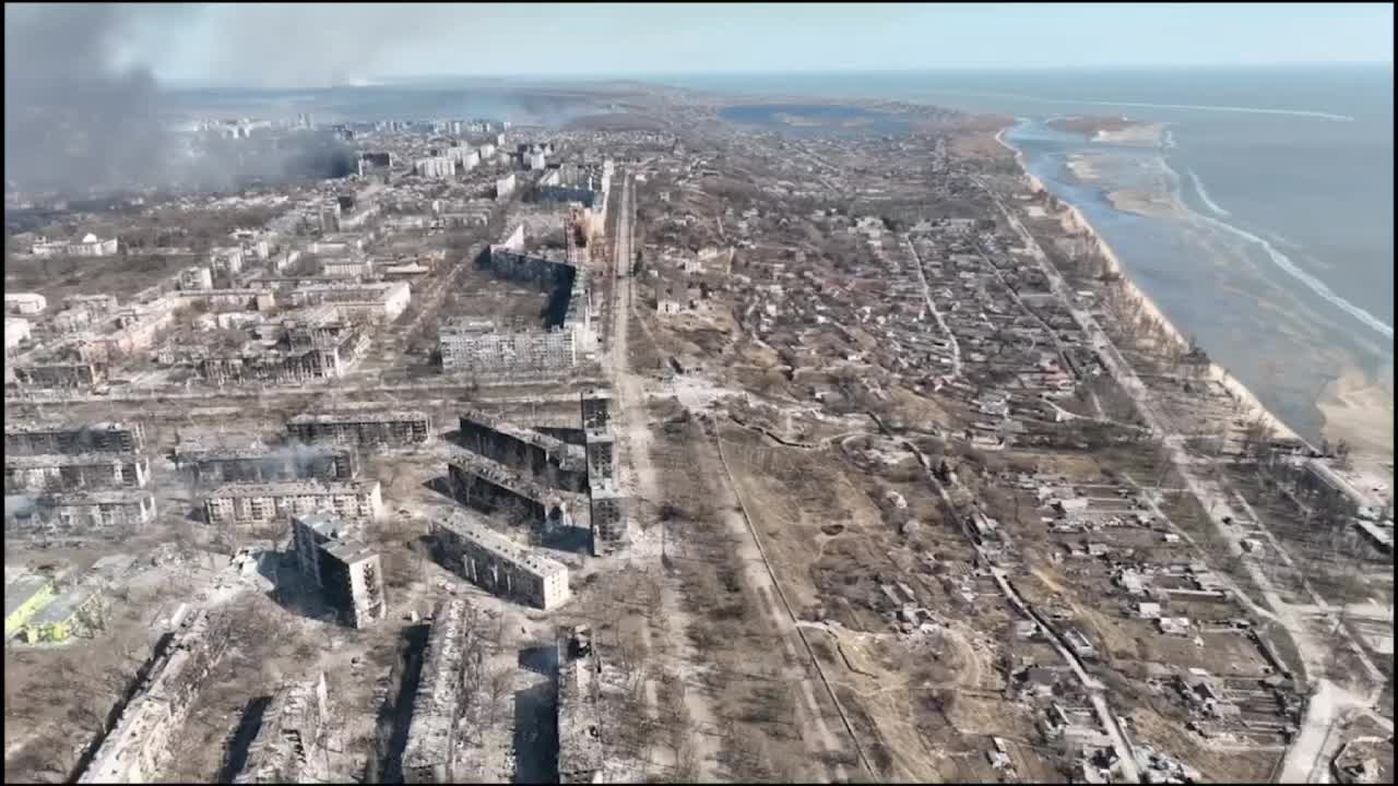
[[[575,494],[554,491],[531,478],[481,456],[457,456],[447,464],[452,495],[485,513],[516,506],[524,522],[551,533],[558,527],[577,526],[582,510]]]

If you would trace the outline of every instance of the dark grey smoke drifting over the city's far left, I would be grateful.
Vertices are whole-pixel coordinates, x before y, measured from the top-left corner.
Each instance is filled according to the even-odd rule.
[[[7,189],[228,189],[348,173],[351,151],[324,134],[208,140],[193,154],[180,144],[154,74],[140,63],[123,64],[120,46],[141,25],[196,13],[180,6],[7,4]]]

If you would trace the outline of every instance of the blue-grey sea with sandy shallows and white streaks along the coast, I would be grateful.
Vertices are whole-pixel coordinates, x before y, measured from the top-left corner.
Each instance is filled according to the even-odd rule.
[[[1083,211],[1181,333],[1302,436],[1346,439],[1391,463],[1392,66],[649,81],[1015,117],[1004,140],[1051,192]],[[1144,144],[1116,144],[1051,124],[1083,116],[1162,130]],[[1114,206],[1114,193],[1148,199]]]

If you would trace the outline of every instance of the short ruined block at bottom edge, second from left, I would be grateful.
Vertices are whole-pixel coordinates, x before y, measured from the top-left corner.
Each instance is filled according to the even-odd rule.
[[[302,783],[310,755],[324,745],[330,720],[326,674],[285,685],[263,710],[257,736],[247,745],[243,769],[233,783]]]

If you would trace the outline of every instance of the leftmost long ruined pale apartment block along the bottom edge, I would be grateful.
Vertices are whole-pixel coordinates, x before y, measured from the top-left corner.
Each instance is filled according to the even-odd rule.
[[[157,645],[145,680],[78,776],[78,783],[154,782],[229,639],[228,618],[201,608]]]

